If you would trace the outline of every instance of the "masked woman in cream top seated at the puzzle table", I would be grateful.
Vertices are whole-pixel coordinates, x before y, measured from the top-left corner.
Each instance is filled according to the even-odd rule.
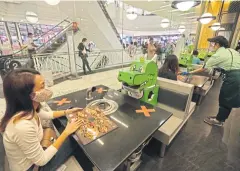
[[[45,151],[40,145],[43,128],[40,119],[53,119],[74,113],[80,109],[46,112],[40,102],[51,98],[45,89],[44,78],[30,69],[17,69],[6,75],[3,81],[6,100],[5,115],[0,123],[3,143],[11,171],[56,170],[70,157],[77,147],[69,135],[75,132],[79,121],[68,123],[58,139]]]

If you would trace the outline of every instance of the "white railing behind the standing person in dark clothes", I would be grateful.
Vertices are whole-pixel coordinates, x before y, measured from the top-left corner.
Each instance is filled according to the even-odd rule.
[[[83,71],[83,66],[78,53],[78,51],[74,53],[75,66],[77,73],[80,73]],[[143,56],[141,51],[137,51],[135,56],[130,57],[123,50],[102,50],[88,53],[87,59],[92,70],[101,70],[130,64],[141,56]],[[70,54],[67,52],[35,54],[33,60],[36,70],[52,71],[54,79],[73,74],[71,73]]]

